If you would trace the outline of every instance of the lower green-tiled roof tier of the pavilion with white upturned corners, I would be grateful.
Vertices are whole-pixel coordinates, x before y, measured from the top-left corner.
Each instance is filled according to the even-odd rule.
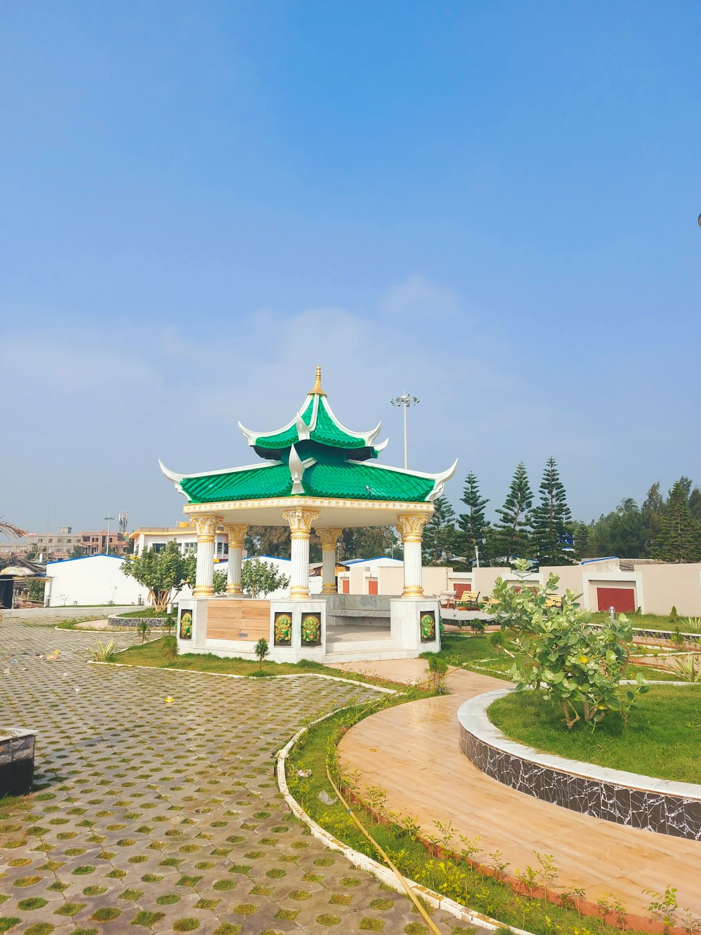
[[[457,461],[440,474],[425,474],[350,458],[320,455],[301,460],[294,446],[289,460],[205,474],[176,474],[161,464],[165,476],[193,504],[287,496],[430,503],[442,493],[456,467]]]

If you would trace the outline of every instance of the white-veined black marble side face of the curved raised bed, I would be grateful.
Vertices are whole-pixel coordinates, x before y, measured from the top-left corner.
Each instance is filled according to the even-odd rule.
[[[617,825],[701,841],[701,799],[634,789],[541,766],[481,740],[462,722],[460,751],[478,770],[527,796]]]

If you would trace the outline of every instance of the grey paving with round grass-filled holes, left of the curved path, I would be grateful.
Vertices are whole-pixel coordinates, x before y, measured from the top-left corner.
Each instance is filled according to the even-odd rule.
[[[406,897],[308,834],[274,779],[275,751],[304,720],[375,693],[89,666],[97,636],[53,624],[0,624],[0,724],[38,730],[42,787],[0,803],[0,930],[3,919],[33,935],[417,926]],[[37,655],[53,650],[56,662]],[[434,918],[449,935],[468,930]]]

